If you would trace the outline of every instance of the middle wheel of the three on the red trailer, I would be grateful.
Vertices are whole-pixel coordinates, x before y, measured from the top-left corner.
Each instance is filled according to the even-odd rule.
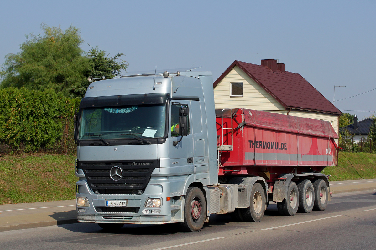
[[[315,193],[310,180],[302,180],[298,184],[300,213],[310,213],[315,203]]]

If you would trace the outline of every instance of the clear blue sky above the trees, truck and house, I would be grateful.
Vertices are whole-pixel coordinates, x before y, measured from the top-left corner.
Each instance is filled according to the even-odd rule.
[[[128,71],[203,66],[214,80],[234,60],[279,59],[337,108],[374,114],[376,1],[1,1],[0,64],[41,24],[80,28]],[[372,112],[359,112],[372,111]]]

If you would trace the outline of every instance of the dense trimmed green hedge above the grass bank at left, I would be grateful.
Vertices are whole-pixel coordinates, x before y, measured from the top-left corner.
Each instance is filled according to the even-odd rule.
[[[0,89],[0,144],[14,151],[52,148],[62,136],[62,118],[73,119],[79,100],[53,90]]]

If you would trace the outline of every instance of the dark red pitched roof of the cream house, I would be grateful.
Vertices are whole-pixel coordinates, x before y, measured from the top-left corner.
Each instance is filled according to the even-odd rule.
[[[300,74],[288,71],[282,72],[279,69],[273,72],[267,66],[234,61],[214,82],[214,87],[219,84],[235,65],[264,88],[265,91],[273,96],[274,99],[286,109],[305,109],[309,111],[341,114],[338,108],[309,84]]]

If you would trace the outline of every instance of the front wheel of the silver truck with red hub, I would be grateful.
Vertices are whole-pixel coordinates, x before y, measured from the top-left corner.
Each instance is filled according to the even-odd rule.
[[[184,232],[198,232],[206,219],[206,201],[201,189],[190,187],[185,195],[184,222],[180,227]]]

